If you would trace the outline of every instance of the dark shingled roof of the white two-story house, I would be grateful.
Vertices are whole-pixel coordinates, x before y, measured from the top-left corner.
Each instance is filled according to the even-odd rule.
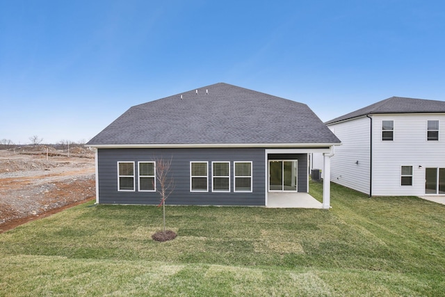
[[[353,111],[352,113],[341,115],[341,117],[329,120],[325,122],[325,124],[329,125],[334,122],[349,120],[373,113],[445,113],[445,102],[405,97],[391,97],[366,106],[363,109]]]

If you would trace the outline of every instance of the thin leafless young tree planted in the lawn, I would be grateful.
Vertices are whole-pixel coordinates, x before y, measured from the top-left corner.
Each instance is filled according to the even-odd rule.
[[[175,189],[175,184],[173,178],[168,176],[168,172],[170,171],[170,166],[172,165],[172,158],[170,160],[165,160],[163,158],[156,159],[156,181],[159,184],[159,187],[156,188],[156,192],[161,196],[161,203],[159,203],[159,207],[162,206],[163,212],[163,227],[165,233],[165,200],[167,200],[168,196]]]

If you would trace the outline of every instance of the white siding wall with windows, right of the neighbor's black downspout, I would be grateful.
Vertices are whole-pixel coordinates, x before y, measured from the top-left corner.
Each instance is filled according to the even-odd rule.
[[[427,141],[426,125],[428,120],[443,122],[445,114],[372,116],[375,128],[379,120],[394,120],[394,141],[373,142],[372,195],[425,195],[426,168],[445,168],[445,143]],[[373,134],[373,139],[380,136]],[[412,186],[401,185],[401,166],[412,166]]]

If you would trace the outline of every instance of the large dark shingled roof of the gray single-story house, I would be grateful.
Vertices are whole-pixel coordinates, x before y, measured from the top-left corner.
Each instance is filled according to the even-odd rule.
[[[306,104],[216,83],[133,106],[88,145],[237,143],[340,141]]]

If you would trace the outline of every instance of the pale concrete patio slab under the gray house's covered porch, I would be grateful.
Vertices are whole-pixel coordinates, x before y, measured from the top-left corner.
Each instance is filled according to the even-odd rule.
[[[268,208],[323,209],[323,204],[309,193],[269,192]]]

